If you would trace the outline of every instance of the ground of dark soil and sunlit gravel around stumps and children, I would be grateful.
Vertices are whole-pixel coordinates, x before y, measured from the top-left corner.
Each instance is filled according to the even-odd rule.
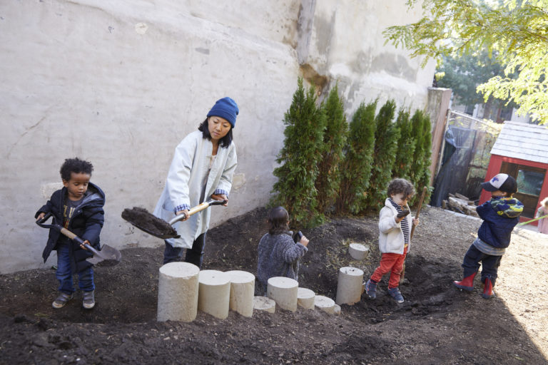
[[[203,269],[255,274],[264,209],[210,230]],[[460,262],[480,220],[425,207],[407,257],[405,303],[386,294],[342,305],[340,315],[298,309],[220,320],[156,322],[163,246],[127,248],[122,262],[96,268],[96,307],[81,296],[53,309],[53,269],[0,276],[0,364],[548,364],[547,235],[514,232],[490,300],[461,292]],[[338,217],[313,230],[299,284],[335,299],[338,269],[369,277],[379,262],[377,217]],[[45,238],[44,238],[45,240]],[[163,245],[159,240],[158,245]],[[367,259],[347,255],[370,245]]]

